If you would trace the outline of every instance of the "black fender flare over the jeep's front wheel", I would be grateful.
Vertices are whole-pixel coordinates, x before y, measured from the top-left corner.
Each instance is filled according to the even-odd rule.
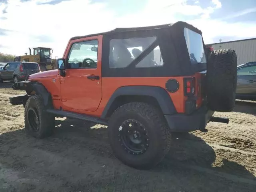
[[[44,106],[52,106],[51,94],[45,86],[39,82],[21,81],[14,83],[12,88],[16,90],[25,90],[28,95],[40,95],[44,101]]]

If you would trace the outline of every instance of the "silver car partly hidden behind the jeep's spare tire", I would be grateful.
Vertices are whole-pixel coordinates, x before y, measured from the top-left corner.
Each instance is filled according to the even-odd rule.
[[[256,62],[237,66],[236,98],[256,100]]]

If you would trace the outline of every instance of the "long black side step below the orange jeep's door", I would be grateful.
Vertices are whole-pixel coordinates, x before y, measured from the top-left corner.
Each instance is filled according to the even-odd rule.
[[[83,115],[83,114],[79,114],[79,113],[68,112],[68,111],[63,111],[63,110],[56,110],[56,109],[47,109],[46,112],[52,113],[52,114],[55,114],[55,115],[58,115],[58,116],[64,116],[64,117],[67,117],[67,118],[90,121],[90,122],[98,123],[98,124],[101,124],[101,125],[108,125],[108,122],[103,120],[103,119],[100,119],[98,117]]]

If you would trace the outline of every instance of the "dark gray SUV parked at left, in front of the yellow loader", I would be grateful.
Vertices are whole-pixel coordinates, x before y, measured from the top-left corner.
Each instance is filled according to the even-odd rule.
[[[14,80],[14,82],[26,79],[26,76],[40,72],[38,63],[35,62],[8,62],[0,68],[0,82]]]

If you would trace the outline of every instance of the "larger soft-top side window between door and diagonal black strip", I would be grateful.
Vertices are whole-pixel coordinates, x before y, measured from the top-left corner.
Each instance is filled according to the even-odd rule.
[[[110,40],[109,68],[125,68],[154,41],[156,36]]]

